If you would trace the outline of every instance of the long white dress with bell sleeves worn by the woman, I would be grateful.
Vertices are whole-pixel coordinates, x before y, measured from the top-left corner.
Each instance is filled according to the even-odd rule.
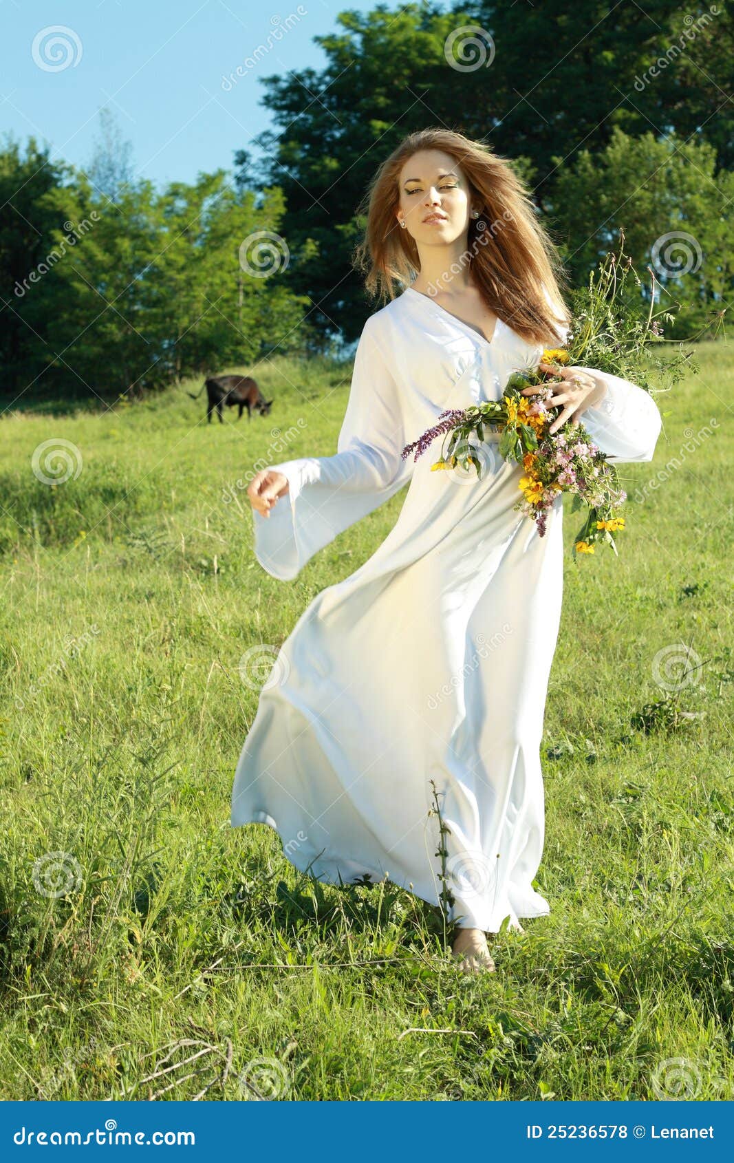
[[[550,911],[534,878],[562,500],[540,537],[514,509],[519,465],[490,451],[482,479],[459,478],[430,471],[440,440],[418,462],[400,454],[444,408],[499,399],[541,351],[501,321],[487,341],[408,287],[364,326],[336,455],[272,465],[288,492],[269,518],[252,513],[257,561],[287,580],[409,481],[385,541],[283,643],[237,763],[233,827],[276,828],[286,857],[325,883],[387,877],[439,905],[443,872],[449,920],[485,932]],[[651,459],[656,404],[603,378],[582,422],[612,463]]]

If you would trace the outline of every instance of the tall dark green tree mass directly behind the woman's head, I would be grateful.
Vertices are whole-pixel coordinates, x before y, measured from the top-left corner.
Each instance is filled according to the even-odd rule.
[[[341,31],[315,37],[323,70],[264,79],[276,129],[258,142],[266,183],[285,193],[288,244],[314,244],[314,261],[287,280],[311,298],[322,331],[359,334],[370,308],[350,265],[355,213],[376,166],[415,129],[459,129],[520,160],[541,211],[555,201],[558,170],[579,149],[603,150],[615,127],[708,140],[718,166],[734,165],[734,23],[725,0],[718,13],[689,17],[676,0],[592,0],[573,10],[566,0],[506,0],[448,12],[420,0],[341,13]],[[470,69],[456,67],[466,26],[485,30]]]

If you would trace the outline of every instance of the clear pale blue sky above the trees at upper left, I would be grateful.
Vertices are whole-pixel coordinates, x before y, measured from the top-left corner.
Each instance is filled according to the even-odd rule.
[[[234,151],[249,148],[257,159],[251,140],[271,128],[258,78],[321,69],[325,56],[313,37],[334,31],[337,13],[375,5],[0,0],[0,136],[5,142],[10,131],[24,144],[34,135],[49,143],[51,157],[86,169],[106,105],[131,142],[137,174],[162,185],[233,170]],[[291,28],[276,41],[273,28],[288,16]],[[258,45],[268,51],[252,64]],[[248,57],[249,71],[237,77]]]

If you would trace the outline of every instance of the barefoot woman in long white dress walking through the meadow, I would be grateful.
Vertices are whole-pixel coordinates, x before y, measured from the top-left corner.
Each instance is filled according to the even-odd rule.
[[[383,544],[283,643],[237,764],[231,823],[275,827],[288,859],[327,883],[389,877],[448,902],[459,968],[491,971],[486,934],[549,912],[533,880],[562,500],[540,537],[514,509],[521,468],[491,445],[480,479],[432,473],[435,456],[401,450],[444,408],[499,399],[513,370],[563,342],[560,262],[508,163],[447,130],[412,134],[380,166],[358,258],[389,301],[362,331],[337,452],[252,479],[256,557],[293,578],[409,488]],[[406,287],[397,298],[394,280]],[[583,416],[611,462],[651,459],[661,416],[647,392],[541,366],[563,377],[551,430]]]

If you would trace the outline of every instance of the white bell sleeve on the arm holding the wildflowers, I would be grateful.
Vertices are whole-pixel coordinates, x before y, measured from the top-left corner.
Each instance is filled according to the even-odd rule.
[[[561,314],[563,308],[547,288],[543,293],[556,314]],[[562,348],[569,331],[570,326],[558,324],[554,343]],[[607,461],[612,464],[651,461],[663,421],[650,393],[608,371],[596,368],[580,368],[580,371],[606,384],[603,399],[582,413],[580,422]]]

